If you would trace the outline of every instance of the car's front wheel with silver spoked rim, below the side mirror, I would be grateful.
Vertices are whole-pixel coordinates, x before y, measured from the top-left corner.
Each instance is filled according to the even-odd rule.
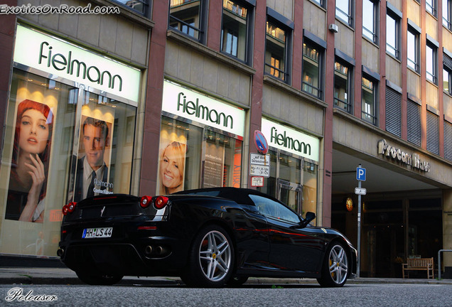
[[[322,276],[317,279],[324,287],[340,287],[347,281],[350,261],[342,243],[333,242],[325,254]]]

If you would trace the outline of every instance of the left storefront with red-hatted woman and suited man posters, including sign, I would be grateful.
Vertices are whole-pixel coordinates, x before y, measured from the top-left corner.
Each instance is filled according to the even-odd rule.
[[[1,152],[0,253],[56,257],[63,205],[130,192],[137,102],[71,80],[69,69],[55,75],[37,58],[23,60],[17,48],[26,42],[29,53],[43,42],[70,48],[69,58],[87,51],[18,26]],[[54,59],[50,68],[60,68],[63,52]]]

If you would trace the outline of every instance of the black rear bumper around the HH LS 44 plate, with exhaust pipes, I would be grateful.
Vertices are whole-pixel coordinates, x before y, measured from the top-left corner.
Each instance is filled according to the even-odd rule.
[[[74,271],[178,276],[188,259],[188,244],[176,235],[162,235],[166,222],[146,224],[152,229],[139,230],[136,222],[63,225],[60,259]],[[90,227],[113,227],[112,237],[83,239],[83,230]]]

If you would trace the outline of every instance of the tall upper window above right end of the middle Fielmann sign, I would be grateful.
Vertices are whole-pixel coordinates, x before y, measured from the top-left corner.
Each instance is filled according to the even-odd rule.
[[[238,1],[223,0],[221,51],[244,62],[247,62],[248,50],[251,48],[250,8]]]

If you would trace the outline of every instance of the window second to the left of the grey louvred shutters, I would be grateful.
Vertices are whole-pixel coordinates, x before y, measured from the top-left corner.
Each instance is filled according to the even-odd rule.
[[[334,63],[334,106],[352,112],[351,68],[340,60]]]

